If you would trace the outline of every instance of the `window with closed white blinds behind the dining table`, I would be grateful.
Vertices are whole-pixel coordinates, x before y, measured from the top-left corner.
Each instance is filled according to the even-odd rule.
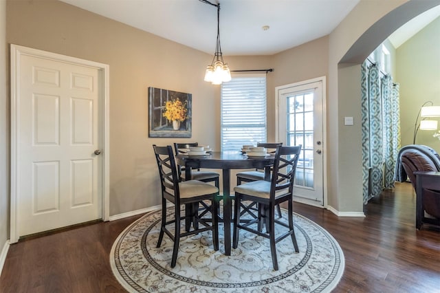
[[[266,76],[237,76],[221,85],[221,151],[266,141]]]

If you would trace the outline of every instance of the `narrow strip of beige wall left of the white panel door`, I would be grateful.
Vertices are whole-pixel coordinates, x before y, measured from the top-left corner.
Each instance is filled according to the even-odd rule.
[[[6,86],[6,1],[0,0],[0,273],[9,230],[9,102]]]

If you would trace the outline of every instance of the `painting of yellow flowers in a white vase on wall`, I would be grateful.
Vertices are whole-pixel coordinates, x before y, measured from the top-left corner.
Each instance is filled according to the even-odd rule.
[[[150,138],[191,137],[192,94],[148,87]]]

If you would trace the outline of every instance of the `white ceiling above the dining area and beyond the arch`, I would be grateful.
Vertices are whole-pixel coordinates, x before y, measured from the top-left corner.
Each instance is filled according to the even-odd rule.
[[[199,0],[61,1],[208,54],[215,51],[217,8]],[[219,0],[223,55],[271,55],[318,39],[336,28],[359,1]],[[421,17],[421,27],[396,32],[390,39],[393,45],[404,43],[434,14]],[[263,30],[264,25],[270,29]]]

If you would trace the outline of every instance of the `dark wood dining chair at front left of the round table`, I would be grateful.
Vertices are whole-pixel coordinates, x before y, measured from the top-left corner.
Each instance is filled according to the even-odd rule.
[[[168,235],[174,241],[173,256],[171,258],[171,268],[174,268],[177,261],[177,252],[179,251],[179,242],[181,237],[195,235],[207,230],[212,231],[212,241],[214,250],[219,250],[219,225],[218,225],[218,201],[217,195],[219,188],[201,182],[199,180],[179,181],[177,166],[171,146],[156,146],[153,144],[153,150],[159,169],[159,177],[162,187],[162,223],[160,225],[159,238],[157,239],[157,248],[162,244],[164,234]],[[200,202],[210,202],[210,218],[200,217],[195,208],[185,208],[185,214],[182,215],[181,205],[188,207],[198,206]],[[167,202],[174,204],[174,214],[170,213],[167,221]],[[181,231],[181,221],[190,219],[197,222],[197,228],[193,230]],[[200,228],[199,228],[199,225]],[[168,228],[174,227],[174,228]],[[196,226],[196,225],[195,225]],[[173,230],[173,231],[172,231]]]

